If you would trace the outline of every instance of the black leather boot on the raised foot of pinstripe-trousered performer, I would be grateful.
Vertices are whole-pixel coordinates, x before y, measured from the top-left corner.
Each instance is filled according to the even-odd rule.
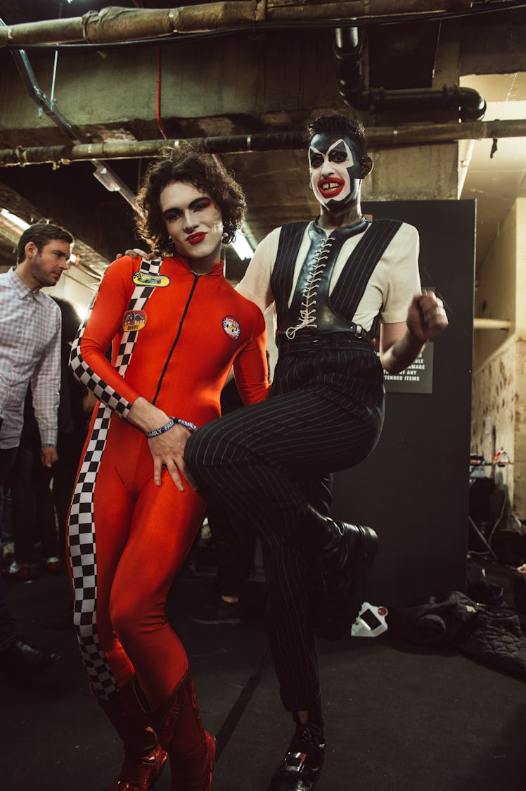
[[[361,524],[323,517],[309,505],[297,539],[324,580],[325,595],[315,613],[316,631],[330,639],[350,634],[364,600],[367,572],[377,554],[377,534]]]

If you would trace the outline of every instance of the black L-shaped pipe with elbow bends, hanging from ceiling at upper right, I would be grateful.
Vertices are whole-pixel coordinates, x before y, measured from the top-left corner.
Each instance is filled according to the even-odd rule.
[[[364,110],[371,115],[381,114],[388,110],[397,112],[446,111],[461,121],[474,121],[482,118],[486,112],[486,102],[472,88],[460,88],[453,85],[442,89],[404,89],[389,90],[383,88],[364,89],[364,78],[361,70],[363,36],[358,28],[336,28],[335,59],[336,78],[339,95],[346,105],[354,110]]]

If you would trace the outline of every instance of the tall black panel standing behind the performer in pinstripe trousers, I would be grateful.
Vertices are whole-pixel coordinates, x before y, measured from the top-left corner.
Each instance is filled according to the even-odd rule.
[[[449,320],[434,343],[433,392],[388,392],[377,448],[335,475],[332,515],[380,536],[368,600],[405,606],[464,589],[475,202],[369,202],[362,210],[418,228],[422,287],[437,290]]]

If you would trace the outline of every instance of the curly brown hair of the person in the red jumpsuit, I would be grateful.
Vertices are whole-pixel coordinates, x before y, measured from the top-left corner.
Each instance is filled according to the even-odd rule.
[[[247,206],[244,192],[211,154],[197,151],[187,142],[181,142],[177,148],[162,149],[157,160],[147,168],[135,200],[135,227],[139,236],[156,252],[175,252],[159,198],[165,187],[176,181],[193,184],[196,189],[206,192],[221,212],[222,244],[233,241]]]

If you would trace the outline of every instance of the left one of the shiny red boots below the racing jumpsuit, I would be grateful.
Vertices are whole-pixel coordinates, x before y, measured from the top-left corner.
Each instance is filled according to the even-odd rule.
[[[124,743],[123,766],[107,791],[148,791],[168,758],[138,702],[133,680],[108,700],[97,698]]]

